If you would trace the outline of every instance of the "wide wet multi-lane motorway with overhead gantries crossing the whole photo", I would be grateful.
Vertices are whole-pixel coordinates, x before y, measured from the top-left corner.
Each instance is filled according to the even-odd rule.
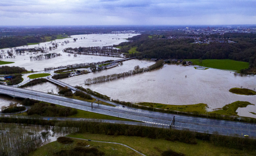
[[[163,128],[169,128],[173,116],[175,116],[175,122],[173,122],[173,124],[171,125],[172,129],[188,129],[191,131],[208,132],[211,134],[217,131],[221,135],[238,134],[239,136],[242,136],[242,134],[247,134],[250,137],[256,137],[256,124],[251,123],[214,120],[185,115],[152,112],[148,110],[141,110],[127,106],[122,107],[122,105],[116,104],[114,104],[116,105],[116,107],[113,107],[94,103],[93,108],[91,108],[91,103],[87,101],[81,101],[59,95],[51,95],[38,91],[14,88],[4,85],[0,85],[0,93],[22,98],[30,98],[45,101],[94,113],[101,113],[105,115],[142,121],[144,123],[155,124],[157,127]],[[108,101],[108,103],[110,102]]]

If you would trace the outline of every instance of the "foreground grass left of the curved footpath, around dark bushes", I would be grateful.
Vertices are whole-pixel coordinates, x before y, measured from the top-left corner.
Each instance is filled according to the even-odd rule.
[[[80,145],[79,143],[84,142],[84,144],[89,144],[90,147],[96,147],[99,151],[105,153],[105,155],[134,155],[139,156],[138,153],[134,152],[133,150],[129,149],[128,147],[124,147],[121,145],[116,144],[108,144],[108,143],[97,143],[97,142],[90,142],[90,141],[81,141],[78,139],[72,139],[74,142],[70,144],[61,144],[57,141],[51,142],[46,144],[42,147],[39,147],[35,151],[29,153],[29,156],[37,155],[37,156],[45,156],[45,155],[56,155],[55,153],[60,150],[67,150],[72,149]],[[92,153],[91,153],[92,154]]]

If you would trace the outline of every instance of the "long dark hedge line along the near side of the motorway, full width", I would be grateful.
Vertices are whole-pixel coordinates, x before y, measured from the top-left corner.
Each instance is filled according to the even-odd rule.
[[[215,146],[228,148],[255,150],[256,140],[250,138],[242,138],[237,136],[221,136],[218,134],[197,133],[188,130],[162,129],[154,127],[144,127],[135,125],[98,123],[89,121],[56,121],[41,120],[40,118],[9,118],[0,117],[2,123],[23,123],[57,126],[59,129],[68,130],[78,128],[79,133],[90,132],[106,135],[125,135],[140,136],[151,139],[166,139],[170,141],[180,141],[189,144],[196,144],[196,139],[208,141]]]

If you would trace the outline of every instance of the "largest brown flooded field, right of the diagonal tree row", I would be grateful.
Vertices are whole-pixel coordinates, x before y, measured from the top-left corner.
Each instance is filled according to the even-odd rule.
[[[121,101],[173,105],[206,103],[208,111],[235,101],[256,104],[256,95],[237,95],[228,91],[233,87],[255,90],[255,77],[234,76],[234,72],[218,69],[197,70],[193,66],[166,64],[162,69],[140,75],[81,86]],[[256,117],[248,112],[256,113],[256,106],[241,108],[239,113]]]

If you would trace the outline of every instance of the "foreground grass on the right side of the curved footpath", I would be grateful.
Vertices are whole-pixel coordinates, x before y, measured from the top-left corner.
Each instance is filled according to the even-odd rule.
[[[171,149],[185,155],[254,155],[253,151],[244,151],[226,147],[217,147],[209,142],[197,140],[197,144],[186,144],[178,141],[167,141],[165,139],[150,139],[137,136],[110,136],[104,134],[70,134],[70,137],[91,139],[98,141],[110,141],[130,146],[145,155],[161,155],[163,151]],[[129,155],[129,154],[125,154]]]

